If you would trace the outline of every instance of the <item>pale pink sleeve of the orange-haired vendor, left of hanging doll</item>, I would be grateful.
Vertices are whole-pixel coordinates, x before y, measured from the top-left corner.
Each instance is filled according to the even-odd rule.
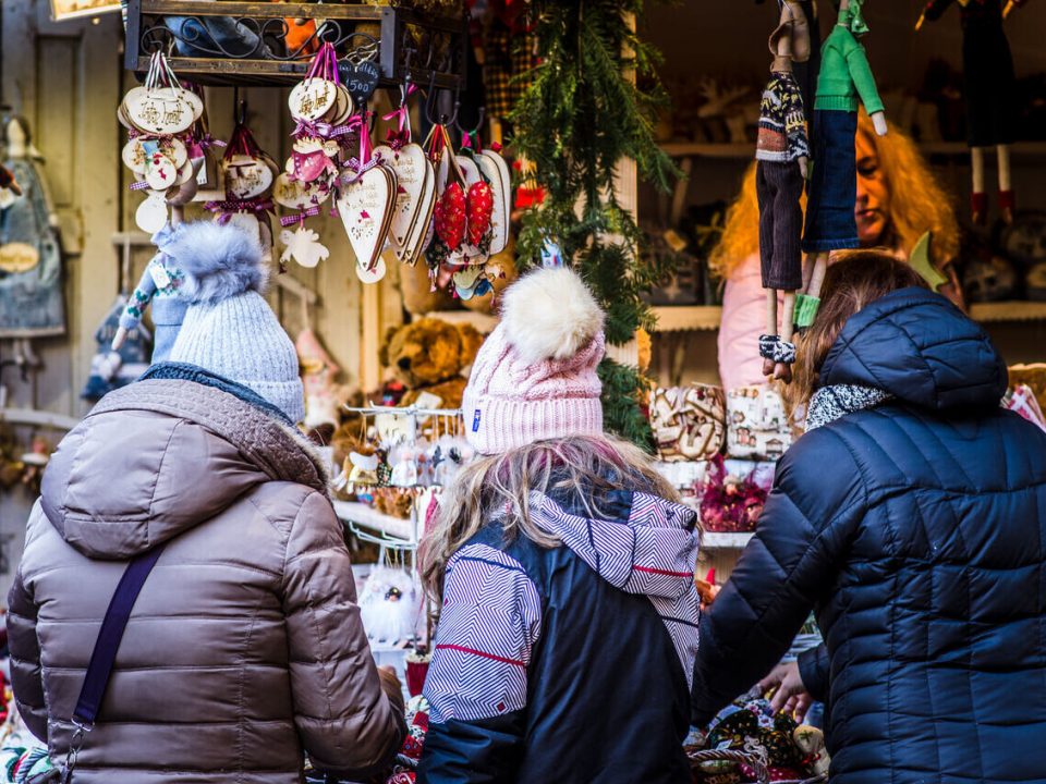
[[[766,383],[759,335],[766,331],[766,293],[759,256],[749,256],[727,281],[719,327],[719,378],[725,389]]]

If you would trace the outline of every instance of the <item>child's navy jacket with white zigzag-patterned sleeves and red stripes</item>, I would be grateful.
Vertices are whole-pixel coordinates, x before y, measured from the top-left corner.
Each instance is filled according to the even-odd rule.
[[[688,784],[695,514],[629,491],[589,519],[532,494],[562,547],[491,520],[450,560],[418,784]]]

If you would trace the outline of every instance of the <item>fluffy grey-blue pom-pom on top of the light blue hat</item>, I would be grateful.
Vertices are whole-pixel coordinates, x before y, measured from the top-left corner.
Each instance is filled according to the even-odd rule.
[[[190,303],[215,303],[247,291],[265,292],[268,269],[257,235],[234,222],[183,223],[163,253],[185,273],[180,293]]]

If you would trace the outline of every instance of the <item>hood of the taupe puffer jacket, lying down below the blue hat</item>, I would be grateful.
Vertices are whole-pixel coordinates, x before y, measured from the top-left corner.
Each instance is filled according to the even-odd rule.
[[[82,553],[121,560],[268,481],[327,492],[323,461],[294,428],[220,389],[146,380],[106,395],[62,440],[41,503]]]

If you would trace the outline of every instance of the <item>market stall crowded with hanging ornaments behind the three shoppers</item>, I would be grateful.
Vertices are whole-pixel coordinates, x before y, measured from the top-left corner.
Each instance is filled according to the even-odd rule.
[[[800,436],[782,397],[793,324],[810,327],[830,250],[887,245],[985,323],[1011,366],[1002,405],[1046,429],[1035,24],[1007,23],[1015,69],[993,75],[996,96],[962,82],[971,45],[947,3],[925,20],[908,19],[910,3],[869,5],[865,28],[846,28],[853,46],[875,30],[854,77],[862,107],[825,111],[822,33],[846,36],[816,5],[730,4],[709,19],[697,3],[636,17],[632,3],[536,15],[514,2],[130,0],[123,19],[64,22],[5,7],[0,587],[50,450],[170,348],[184,270],[168,249],[193,221],[243,226],[264,248],[301,366],[300,427],[330,468],[372,649],[414,698],[431,635],[418,544],[475,456],[465,379],[500,292],[526,269],[574,266],[606,310],[608,429],[647,449],[700,513],[707,601]],[[1042,7],[1019,5],[1013,19],[1043,22]],[[695,29],[707,45],[693,46]],[[978,123],[985,113],[995,121]],[[831,164],[811,179],[811,158]],[[860,236],[816,223],[811,200],[839,207],[816,177],[853,180]],[[806,181],[819,183],[810,200]],[[802,248],[805,270],[804,209],[804,236],[823,240]],[[767,250],[775,222],[789,236]],[[787,261],[761,269],[761,250]],[[807,632],[792,653],[819,641]],[[424,705],[412,710],[421,727]],[[404,775],[423,735],[412,727]],[[758,748],[741,748],[753,737]],[[727,749],[747,757],[701,756]],[[825,773],[823,738],[762,702],[720,716],[690,751],[706,781]]]

